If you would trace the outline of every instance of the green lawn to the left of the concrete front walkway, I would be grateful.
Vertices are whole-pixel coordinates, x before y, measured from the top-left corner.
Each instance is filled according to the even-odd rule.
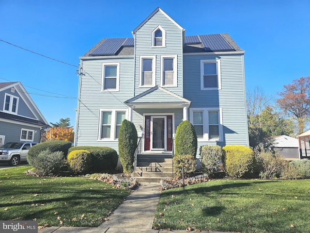
[[[0,220],[95,227],[130,193],[87,178],[28,176],[30,168],[0,169]]]

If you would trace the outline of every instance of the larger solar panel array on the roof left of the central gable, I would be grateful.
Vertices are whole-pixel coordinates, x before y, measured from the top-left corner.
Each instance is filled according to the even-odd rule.
[[[108,38],[97,49],[93,50],[91,56],[114,55],[121,48],[126,38]]]

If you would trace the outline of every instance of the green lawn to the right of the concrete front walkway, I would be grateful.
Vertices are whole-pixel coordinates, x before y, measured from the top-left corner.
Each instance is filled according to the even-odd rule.
[[[310,233],[310,180],[215,180],[163,191],[154,226]]]

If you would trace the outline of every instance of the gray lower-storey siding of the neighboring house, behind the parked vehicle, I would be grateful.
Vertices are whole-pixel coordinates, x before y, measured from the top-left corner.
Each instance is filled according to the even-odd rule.
[[[0,121],[0,135],[4,135],[4,143],[20,142],[21,129],[33,130],[33,142],[40,142],[40,127],[24,126],[10,122]]]

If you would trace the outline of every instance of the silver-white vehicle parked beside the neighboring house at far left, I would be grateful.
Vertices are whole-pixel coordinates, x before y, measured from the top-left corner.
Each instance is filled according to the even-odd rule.
[[[7,142],[0,147],[0,163],[16,166],[19,162],[27,162],[28,150],[36,142]]]

